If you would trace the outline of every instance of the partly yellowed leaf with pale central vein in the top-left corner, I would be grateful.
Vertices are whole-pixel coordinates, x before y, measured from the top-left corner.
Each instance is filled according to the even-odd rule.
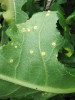
[[[22,6],[27,0],[0,0],[1,6],[5,12],[3,12],[4,19],[10,23],[22,23],[27,20],[27,14],[22,11]]]

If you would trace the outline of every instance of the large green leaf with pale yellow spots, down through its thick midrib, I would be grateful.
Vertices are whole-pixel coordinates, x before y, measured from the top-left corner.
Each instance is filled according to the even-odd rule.
[[[75,92],[75,70],[57,59],[65,44],[57,21],[57,12],[41,12],[7,31],[11,41],[0,48],[1,80],[51,93]]]

